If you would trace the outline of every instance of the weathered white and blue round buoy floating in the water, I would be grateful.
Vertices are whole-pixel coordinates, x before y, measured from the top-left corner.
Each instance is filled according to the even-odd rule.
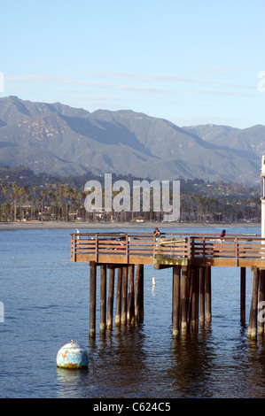
[[[58,351],[56,361],[60,368],[85,368],[89,366],[89,354],[79,343],[71,340]]]

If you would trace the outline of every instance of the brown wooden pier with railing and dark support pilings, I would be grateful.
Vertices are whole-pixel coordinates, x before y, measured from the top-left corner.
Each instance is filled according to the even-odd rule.
[[[265,239],[260,235],[151,233],[72,234],[71,261],[90,263],[90,336],[96,335],[97,266],[100,267],[99,331],[144,320],[144,265],[172,268],[173,337],[196,332],[212,320],[211,267],[240,269],[240,320],[246,320],[246,267],[253,271],[247,335],[264,335],[258,321],[265,304]],[[106,277],[109,273],[108,293]],[[113,320],[114,281],[116,311]]]

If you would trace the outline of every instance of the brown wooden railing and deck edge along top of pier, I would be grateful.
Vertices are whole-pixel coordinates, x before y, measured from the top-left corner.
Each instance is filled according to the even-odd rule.
[[[151,233],[100,233],[71,235],[71,260],[81,262],[113,262],[129,264],[130,260],[145,264],[161,263],[167,258],[189,259],[201,265],[218,259],[264,259],[265,239],[260,235],[169,234],[159,238]],[[228,263],[229,266],[229,263]]]

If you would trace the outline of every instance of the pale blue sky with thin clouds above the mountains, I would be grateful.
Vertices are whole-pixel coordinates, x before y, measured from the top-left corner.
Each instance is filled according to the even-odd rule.
[[[0,97],[265,125],[264,0],[0,0]]]

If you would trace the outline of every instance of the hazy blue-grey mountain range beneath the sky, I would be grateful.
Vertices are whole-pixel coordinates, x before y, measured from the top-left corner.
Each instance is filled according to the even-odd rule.
[[[152,180],[260,182],[265,127],[178,127],[121,110],[0,98],[0,166],[58,176],[132,174]]]

